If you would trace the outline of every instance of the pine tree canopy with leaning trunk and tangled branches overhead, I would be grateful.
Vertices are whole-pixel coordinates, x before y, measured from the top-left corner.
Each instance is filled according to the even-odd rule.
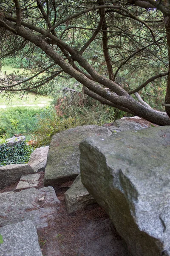
[[[170,125],[169,4],[0,0],[0,63],[7,57],[21,64],[24,59],[27,72],[22,79],[19,74],[0,79],[0,91],[52,90],[57,79],[74,78],[83,93],[102,104]],[[142,99],[142,88],[161,77],[167,83],[167,113]]]

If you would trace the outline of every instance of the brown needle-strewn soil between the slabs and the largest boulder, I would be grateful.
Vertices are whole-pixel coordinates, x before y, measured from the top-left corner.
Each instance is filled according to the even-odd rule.
[[[43,179],[44,172],[40,172],[38,189],[43,187]],[[0,190],[0,193],[14,191],[17,183]],[[48,223],[48,227],[37,230],[42,255],[130,256],[125,242],[98,204],[67,213],[64,193],[72,183],[67,181],[56,189],[60,206],[55,219]]]

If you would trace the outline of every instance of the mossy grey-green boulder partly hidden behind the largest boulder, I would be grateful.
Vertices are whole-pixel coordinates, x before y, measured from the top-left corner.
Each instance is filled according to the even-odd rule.
[[[65,180],[75,179],[80,172],[79,143],[95,135],[110,136],[111,131],[97,125],[84,125],[54,135],[48,151],[44,185],[55,187]]]

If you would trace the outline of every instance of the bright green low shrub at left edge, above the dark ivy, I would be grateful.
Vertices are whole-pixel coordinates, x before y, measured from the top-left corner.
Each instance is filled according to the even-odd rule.
[[[40,109],[15,107],[0,110],[0,137],[34,133]]]

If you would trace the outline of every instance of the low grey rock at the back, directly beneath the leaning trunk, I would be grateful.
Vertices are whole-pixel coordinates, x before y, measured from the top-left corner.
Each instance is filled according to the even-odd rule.
[[[119,131],[141,130],[143,128],[148,128],[147,125],[136,122],[136,119],[137,119],[136,117],[131,118],[131,120],[133,119],[134,119],[134,122],[128,121],[126,117],[126,118],[122,118],[114,121],[113,123],[111,123],[111,125],[105,124],[103,126],[107,127],[112,133],[119,132]]]

